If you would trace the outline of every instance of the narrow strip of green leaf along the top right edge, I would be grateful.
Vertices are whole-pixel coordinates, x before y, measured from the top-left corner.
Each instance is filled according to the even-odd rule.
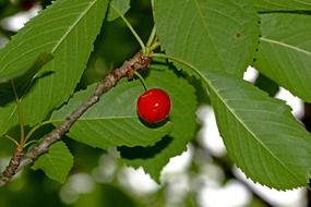
[[[311,0],[253,0],[259,12],[311,10]]]

